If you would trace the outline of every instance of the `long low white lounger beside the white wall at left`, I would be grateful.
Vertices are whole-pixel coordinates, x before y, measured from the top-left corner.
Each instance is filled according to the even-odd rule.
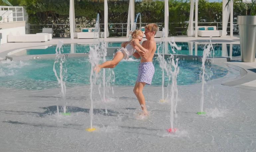
[[[7,36],[8,42],[46,42],[48,41],[47,34],[16,34],[10,33]]]

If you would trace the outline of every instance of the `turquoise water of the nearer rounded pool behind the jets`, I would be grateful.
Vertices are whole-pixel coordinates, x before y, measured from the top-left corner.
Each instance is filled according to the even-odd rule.
[[[111,58],[108,58],[111,59]],[[137,79],[140,60],[121,61],[115,68],[114,85],[133,86]],[[162,69],[154,59],[155,75],[152,85],[162,85]],[[42,90],[58,87],[57,79],[53,72],[54,59],[30,59],[22,61],[0,61],[0,87]],[[90,63],[88,57],[67,57],[66,86],[89,85]],[[199,83],[201,63],[196,61],[179,61],[180,73],[178,85]],[[58,70],[58,69],[57,69]],[[207,65],[208,80],[223,77],[227,69]],[[165,85],[168,85],[168,77]]]

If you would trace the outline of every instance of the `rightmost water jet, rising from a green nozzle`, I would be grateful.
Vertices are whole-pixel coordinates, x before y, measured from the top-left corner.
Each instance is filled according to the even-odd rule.
[[[210,52],[213,52],[214,56],[214,49],[211,44],[211,39],[210,39],[210,44],[206,44],[204,46],[203,50],[203,57],[202,57],[202,67],[201,67],[201,73],[200,73],[200,78],[202,79],[202,90],[201,90],[201,100],[200,100],[200,111],[197,112],[198,115],[205,114],[203,111],[203,102],[204,102],[204,83],[205,83],[205,61],[209,57]]]

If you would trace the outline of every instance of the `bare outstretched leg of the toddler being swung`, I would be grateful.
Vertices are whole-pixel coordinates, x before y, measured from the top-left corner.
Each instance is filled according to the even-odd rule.
[[[94,68],[94,71],[98,73],[101,68],[114,68],[124,57],[122,52],[117,52],[111,61],[106,61]]]

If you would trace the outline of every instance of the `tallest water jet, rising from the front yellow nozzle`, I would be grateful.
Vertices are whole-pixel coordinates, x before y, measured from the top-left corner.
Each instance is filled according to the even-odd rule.
[[[98,74],[94,73],[93,69],[94,67],[99,63],[99,14],[97,14],[96,23],[95,23],[95,29],[94,29],[94,38],[93,38],[93,45],[90,46],[90,52],[89,52],[89,60],[91,63],[91,73],[90,73],[90,100],[91,100],[91,106],[90,106],[90,128],[86,129],[88,132],[93,132],[96,129],[92,127],[92,120],[93,120],[93,99],[92,99],[92,93],[93,93],[93,86],[96,84],[96,81],[98,79]]]

